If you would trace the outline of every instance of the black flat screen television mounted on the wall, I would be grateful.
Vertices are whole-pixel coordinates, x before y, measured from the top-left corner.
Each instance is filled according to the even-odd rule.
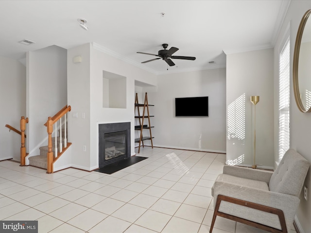
[[[208,96],[175,98],[175,116],[207,117]]]

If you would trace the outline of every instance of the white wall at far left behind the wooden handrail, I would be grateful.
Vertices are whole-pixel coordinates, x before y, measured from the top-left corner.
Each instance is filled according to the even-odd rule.
[[[0,57],[0,160],[20,160],[20,135],[4,127],[20,130],[19,120],[26,117],[26,67],[20,62]],[[27,134],[27,132],[26,132]]]

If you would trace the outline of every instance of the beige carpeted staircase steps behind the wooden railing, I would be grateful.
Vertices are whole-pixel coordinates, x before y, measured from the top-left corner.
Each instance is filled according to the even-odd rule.
[[[58,134],[59,133],[60,133],[60,130],[58,130]],[[65,133],[65,129],[62,129],[62,135],[64,135],[64,133]],[[66,133],[67,133],[67,130],[66,130]],[[57,151],[59,151],[60,138],[57,137],[56,140],[57,140]],[[64,137],[62,137],[62,144],[64,146]],[[29,157],[29,165],[47,169],[49,147],[43,146],[43,147],[40,147],[39,150],[40,150],[40,155]],[[53,153],[55,153],[55,137],[52,137],[52,151]]]

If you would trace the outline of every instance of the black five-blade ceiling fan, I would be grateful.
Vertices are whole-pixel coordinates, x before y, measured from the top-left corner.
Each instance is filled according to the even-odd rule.
[[[172,66],[175,66],[175,64],[173,63],[173,61],[170,59],[183,59],[183,60],[195,60],[195,57],[185,57],[185,56],[172,56],[172,54],[174,52],[176,52],[177,48],[175,47],[172,47],[171,49],[169,50],[166,50],[167,47],[168,47],[168,44],[162,44],[164,50],[159,50],[157,52],[157,55],[156,54],[152,54],[152,53],[146,53],[146,52],[137,52],[137,53],[141,53],[141,54],[147,54],[147,55],[153,55],[153,56],[157,56],[158,58],[155,58],[155,59],[151,59],[151,60],[148,60],[148,61],[145,61],[145,62],[142,62],[142,63],[147,63],[147,62],[152,62],[152,61],[155,61],[157,59],[163,59],[164,61],[166,61],[166,63],[172,67]]]

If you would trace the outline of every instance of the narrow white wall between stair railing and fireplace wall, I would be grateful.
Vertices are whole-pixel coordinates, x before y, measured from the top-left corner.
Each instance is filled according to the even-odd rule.
[[[73,63],[75,56],[81,56],[81,63]],[[68,141],[72,142],[71,162],[73,167],[90,170],[90,44],[67,51]],[[73,114],[77,113],[77,118]],[[85,118],[82,118],[85,113]],[[83,151],[83,146],[86,151]]]

